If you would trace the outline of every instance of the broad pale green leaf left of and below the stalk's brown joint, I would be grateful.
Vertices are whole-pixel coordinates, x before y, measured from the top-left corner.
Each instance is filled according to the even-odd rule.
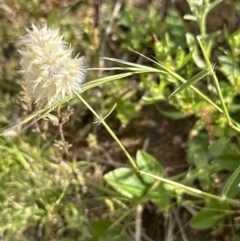
[[[146,192],[146,185],[140,176],[129,168],[118,168],[104,175],[104,179],[123,196],[135,199],[141,198]]]

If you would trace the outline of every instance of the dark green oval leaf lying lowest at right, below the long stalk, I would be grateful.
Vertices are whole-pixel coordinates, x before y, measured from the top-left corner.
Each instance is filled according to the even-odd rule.
[[[190,221],[190,226],[196,229],[212,228],[225,216],[224,213],[202,210],[198,212]]]

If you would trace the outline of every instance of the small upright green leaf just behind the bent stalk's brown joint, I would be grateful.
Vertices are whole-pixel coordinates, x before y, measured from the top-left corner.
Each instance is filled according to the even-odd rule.
[[[156,176],[162,176],[163,170],[159,162],[151,155],[144,151],[138,151],[136,156],[136,163],[139,170],[148,172]],[[145,183],[152,184],[155,179],[147,176],[141,176]]]

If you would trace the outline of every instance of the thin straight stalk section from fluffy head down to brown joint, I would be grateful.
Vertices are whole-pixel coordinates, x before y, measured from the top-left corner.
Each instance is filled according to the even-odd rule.
[[[124,154],[126,155],[127,159],[129,160],[130,164],[132,165],[132,167],[134,168],[134,170],[136,172],[139,172],[139,169],[136,165],[136,163],[134,162],[134,160],[132,159],[132,157],[129,155],[129,153],[127,152],[127,150],[125,149],[125,147],[123,146],[123,144],[121,143],[121,141],[117,138],[117,136],[115,135],[115,133],[112,131],[112,129],[109,127],[109,125],[105,122],[104,118],[100,117],[93,109],[92,107],[82,98],[81,95],[79,95],[76,91],[74,91],[74,94],[78,97],[79,100],[81,100],[83,102],[83,104],[95,115],[95,117],[100,121],[101,124],[103,124],[103,126],[106,128],[106,130],[108,131],[108,133],[112,136],[112,138],[116,141],[116,143],[119,145],[119,147],[122,149],[122,151],[124,152]]]

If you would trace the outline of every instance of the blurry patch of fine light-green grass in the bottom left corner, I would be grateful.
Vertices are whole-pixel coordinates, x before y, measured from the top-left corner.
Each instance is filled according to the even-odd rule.
[[[5,145],[0,146],[0,153],[1,238],[31,240],[33,237],[28,232],[25,236],[25,232],[36,228],[42,230],[44,240],[52,235],[60,239],[62,232],[56,235],[54,230],[64,228],[69,238],[73,232],[79,237],[75,240],[86,240],[85,214],[76,199],[69,202],[71,190],[79,185],[68,181],[74,177],[70,166],[45,161],[43,153],[34,147],[27,153],[14,145]]]

